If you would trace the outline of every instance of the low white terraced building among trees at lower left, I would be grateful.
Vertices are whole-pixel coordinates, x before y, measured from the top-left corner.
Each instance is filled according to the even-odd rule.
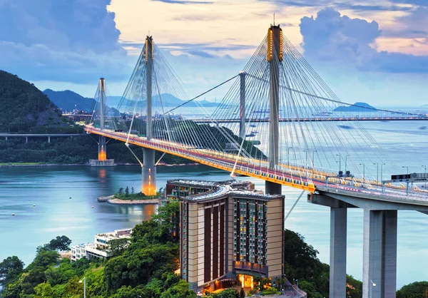
[[[114,230],[113,232],[96,234],[93,243],[82,243],[71,247],[70,260],[71,262],[76,262],[76,260],[82,257],[86,257],[88,260],[92,257],[99,257],[102,259],[111,257],[113,253],[108,251],[108,242],[121,238],[131,238],[131,233],[132,229],[121,229]]]

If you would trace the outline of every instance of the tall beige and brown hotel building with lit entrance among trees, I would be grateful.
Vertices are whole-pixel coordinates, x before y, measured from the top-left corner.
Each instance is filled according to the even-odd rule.
[[[262,195],[249,182],[168,183],[172,189],[206,190],[175,199],[180,200],[180,274],[191,289],[214,290],[227,281],[253,287],[254,277],[282,277],[282,195]]]

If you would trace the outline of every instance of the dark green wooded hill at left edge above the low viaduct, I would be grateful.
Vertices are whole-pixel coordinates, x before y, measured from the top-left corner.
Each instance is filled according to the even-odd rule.
[[[0,132],[36,132],[66,126],[58,108],[34,84],[0,71]],[[33,130],[32,130],[33,129]]]

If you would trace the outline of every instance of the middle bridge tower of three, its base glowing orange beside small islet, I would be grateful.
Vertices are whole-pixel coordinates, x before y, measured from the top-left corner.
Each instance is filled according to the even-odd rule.
[[[146,37],[145,46],[146,55],[146,138],[152,138],[152,73],[153,73],[153,38]],[[145,195],[156,195],[156,165],[155,165],[155,150],[143,148],[143,168],[141,192]]]

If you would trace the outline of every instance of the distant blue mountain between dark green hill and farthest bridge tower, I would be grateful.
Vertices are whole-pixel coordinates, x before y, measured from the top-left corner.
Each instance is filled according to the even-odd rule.
[[[80,94],[66,90],[66,91],[53,91],[51,89],[46,89],[43,91],[49,99],[61,108],[63,112],[73,111],[75,108],[77,110],[91,112],[94,107],[94,99],[86,98]]]

